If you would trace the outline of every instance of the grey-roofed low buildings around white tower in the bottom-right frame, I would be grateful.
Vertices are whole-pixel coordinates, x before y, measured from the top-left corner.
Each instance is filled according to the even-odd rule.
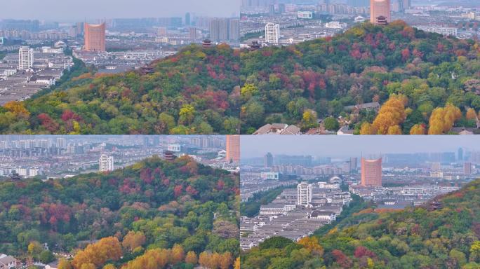
[[[269,237],[281,236],[298,241],[342,213],[352,198],[340,190],[340,184],[331,182],[297,184],[285,189],[275,200],[260,207],[258,216],[241,217],[241,248],[251,249]]]

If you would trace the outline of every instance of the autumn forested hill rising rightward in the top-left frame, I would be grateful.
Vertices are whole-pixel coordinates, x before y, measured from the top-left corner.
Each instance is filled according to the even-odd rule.
[[[2,133],[239,133],[239,51],[187,46],[152,69],[73,78],[68,90],[0,108]]]

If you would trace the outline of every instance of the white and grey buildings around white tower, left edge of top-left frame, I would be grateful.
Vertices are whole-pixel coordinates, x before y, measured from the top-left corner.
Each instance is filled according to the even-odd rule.
[[[74,64],[64,48],[62,41],[53,47],[21,46],[17,53],[9,53],[0,60],[0,105],[28,99],[55,85]]]

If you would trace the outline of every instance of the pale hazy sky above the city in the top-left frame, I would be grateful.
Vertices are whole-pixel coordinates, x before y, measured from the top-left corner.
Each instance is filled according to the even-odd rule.
[[[0,0],[1,19],[158,18],[185,13],[229,17],[240,0]]]

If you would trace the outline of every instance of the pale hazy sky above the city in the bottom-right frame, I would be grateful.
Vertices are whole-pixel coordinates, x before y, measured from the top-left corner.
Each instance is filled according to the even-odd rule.
[[[332,158],[385,153],[456,152],[459,147],[480,151],[480,136],[241,136],[241,158],[265,153],[312,155]]]

